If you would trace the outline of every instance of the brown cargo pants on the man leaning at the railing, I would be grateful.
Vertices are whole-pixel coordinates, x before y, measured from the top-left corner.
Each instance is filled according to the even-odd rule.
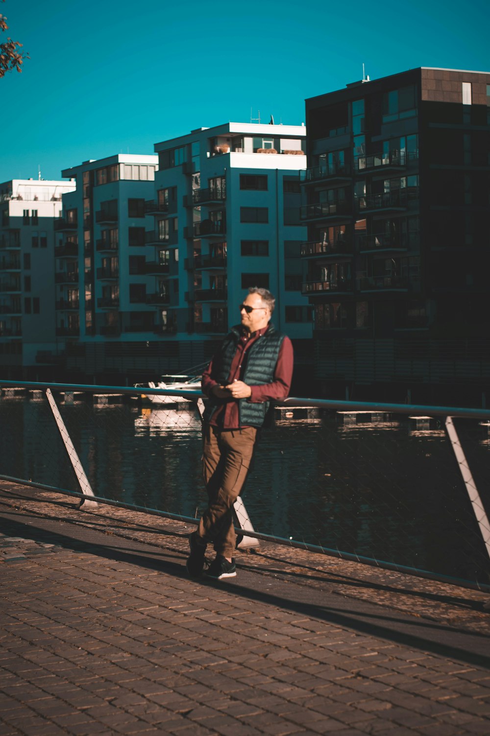
[[[223,557],[234,553],[233,504],[247,477],[256,434],[255,427],[227,431],[211,425],[203,428],[203,476],[209,506],[199,522],[198,537],[213,542]]]

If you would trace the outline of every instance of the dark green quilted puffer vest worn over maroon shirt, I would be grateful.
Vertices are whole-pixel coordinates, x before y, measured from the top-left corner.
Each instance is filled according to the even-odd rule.
[[[219,353],[213,358],[212,378],[221,385],[228,383],[231,370],[231,362],[237,352],[240,339],[240,325],[231,328],[221,344]],[[273,325],[269,325],[267,332],[259,337],[253,345],[245,350],[245,370],[242,370],[242,381],[249,386],[263,386],[264,383],[272,383],[274,380],[275,364],[278,360],[279,349],[284,340],[284,335],[275,331]],[[223,402],[214,396],[209,397],[204,421],[209,421],[215,413],[217,406]],[[263,403],[251,403],[247,399],[239,399],[239,425],[262,427],[270,406],[269,401]]]

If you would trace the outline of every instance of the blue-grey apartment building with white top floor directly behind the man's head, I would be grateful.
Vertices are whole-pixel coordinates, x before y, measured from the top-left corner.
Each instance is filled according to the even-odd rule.
[[[167,265],[162,335],[180,364],[206,360],[249,286],[275,294],[275,327],[298,360],[311,347],[311,308],[300,292],[298,171],[306,129],[227,123],[155,144],[155,260]]]

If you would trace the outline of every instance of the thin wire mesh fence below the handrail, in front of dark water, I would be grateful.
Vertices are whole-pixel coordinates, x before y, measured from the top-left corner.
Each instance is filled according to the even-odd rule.
[[[51,390],[96,496],[200,514],[206,493],[198,392],[185,400],[168,390]],[[403,406],[367,411],[347,402],[339,403],[342,411],[322,411],[312,400],[294,403],[302,401],[303,408],[276,408],[257,443],[242,492],[256,531],[489,584],[481,519],[479,526],[442,412],[413,416]],[[480,416],[454,425],[481,506],[490,511],[490,424],[484,412],[473,414]],[[0,428],[1,475],[80,491],[46,386],[3,385]],[[485,524],[489,534],[483,513],[483,531]]]

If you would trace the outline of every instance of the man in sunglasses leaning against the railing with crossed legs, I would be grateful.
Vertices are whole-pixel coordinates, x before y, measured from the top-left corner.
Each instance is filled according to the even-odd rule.
[[[209,506],[189,538],[187,572],[201,575],[208,542],[216,559],[207,576],[237,575],[233,504],[245,483],[257,431],[271,401],[287,397],[292,378],[292,344],[270,323],[275,299],[253,287],[240,305],[241,325],[231,328],[203,373],[208,397],[203,425],[203,476]]]

